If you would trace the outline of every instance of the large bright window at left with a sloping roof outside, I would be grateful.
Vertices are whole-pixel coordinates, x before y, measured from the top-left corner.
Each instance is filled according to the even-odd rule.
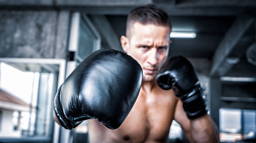
[[[64,66],[63,59],[0,58],[0,141],[51,141],[53,100]]]

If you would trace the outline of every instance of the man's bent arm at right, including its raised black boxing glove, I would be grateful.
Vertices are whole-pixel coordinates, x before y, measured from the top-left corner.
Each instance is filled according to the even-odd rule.
[[[218,132],[207,114],[207,100],[193,65],[183,56],[168,58],[157,75],[162,89],[173,89],[179,99],[175,120],[192,143],[216,143]]]

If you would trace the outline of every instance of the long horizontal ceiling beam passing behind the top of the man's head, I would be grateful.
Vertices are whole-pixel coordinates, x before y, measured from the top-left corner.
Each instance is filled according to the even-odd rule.
[[[166,4],[156,4],[162,7],[170,16],[237,16],[255,15],[256,9],[251,7],[177,7]],[[139,6],[139,5],[137,5]],[[40,10],[63,10],[79,11],[91,15],[128,15],[137,6],[72,6],[72,5],[4,5],[0,3],[0,11],[40,11]]]

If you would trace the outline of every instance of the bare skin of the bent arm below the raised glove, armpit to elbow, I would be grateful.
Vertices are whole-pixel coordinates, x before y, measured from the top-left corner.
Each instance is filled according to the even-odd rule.
[[[181,100],[177,102],[174,119],[180,124],[190,143],[219,142],[218,128],[211,117],[206,114],[196,119],[188,119]]]

